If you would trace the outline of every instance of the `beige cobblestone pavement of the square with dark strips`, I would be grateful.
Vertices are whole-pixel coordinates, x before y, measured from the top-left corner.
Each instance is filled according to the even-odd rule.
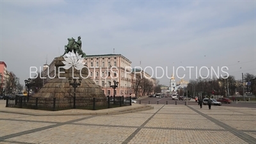
[[[256,143],[256,109],[152,106],[118,115],[1,112],[0,143]]]

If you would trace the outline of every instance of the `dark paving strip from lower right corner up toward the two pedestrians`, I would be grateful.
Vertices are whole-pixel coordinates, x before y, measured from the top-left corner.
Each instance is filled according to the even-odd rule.
[[[235,129],[234,127],[231,127],[223,122],[221,122],[220,120],[216,120],[215,118],[212,118],[209,115],[206,115],[204,113],[202,113],[201,111],[198,111],[195,108],[192,108],[191,106],[188,106],[188,108],[192,109],[193,111],[195,111],[196,113],[204,116],[205,118],[207,118],[208,120],[211,120],[211,122],[213,122],[216,125],[219,125],[220,127],[222,127],[223,129],[226,129],[228,132],[234,134],[235,136],[237,136],[238,138],[240,138],[241,140],[246,141],[246,143],[249,144],[255,144],[256,138],[253,138],[252,136],[250,136],[249,134],[244,133],[243,131],[240,131],[238,129]]]

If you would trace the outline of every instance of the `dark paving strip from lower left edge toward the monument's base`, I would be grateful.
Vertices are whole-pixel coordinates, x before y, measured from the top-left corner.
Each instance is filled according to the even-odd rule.
[[[22,131],[22,132],[17,132],[17,133],[14,133],[14,134],[8,134],[6,136],[1,136],[0,137],[0,142],[4,141],[6,139],[17,137],[17,136],[22,136],[22,135],[25,135],[25,134],[30,134],[30,133],[38,132],[38,131],[43,131],[45,129],[51,129],[51,128],[54,128],[54,127],[60,127],[61,125],[72,124],[74,122],[79,122],[81,120],[86,120],[86,119],[93,118],[93,117],[95,117],[95,115],[86,116],[84,118],[78,118],[76,120],[70,120],[68,122],[62,122],[62,123],[59,123],[59,124],[53,124],[53,125],[48,125],[48,126],[45,126],[45,127],[39,127],[39,128],[31,129],[31,130],[28,130],[28,131]]]

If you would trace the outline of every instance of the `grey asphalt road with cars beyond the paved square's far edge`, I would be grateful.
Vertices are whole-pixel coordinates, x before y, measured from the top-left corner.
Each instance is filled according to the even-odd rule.
[[[147,97],[144,99],[136,100],[138,103],[141,102],[141,104],[171,104],[175,105],[175,102],[177,101],[177,105],[185,105],[185,101],[183,100],[172,100],[172,98],[156,98],[156,97]],[[198,105],[195,101],[188,101],[188,105]],[[231,104],[222,104],[222,106],[234,106],[234,107],[244,107],[244,108],[256,108],[256,102],[232,102]]]

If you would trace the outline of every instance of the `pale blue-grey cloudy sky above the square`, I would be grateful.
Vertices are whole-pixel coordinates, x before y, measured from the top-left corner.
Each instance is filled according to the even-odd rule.
[[[196,72],[207,77],[207,68],[211,78],[211,67],[223,76],[227,67],[222,70],[241,79],[256,75],[255,3],[1,0],[0,61],[24,84],[29,67],[51,63],[67,38],[81,36],[87,55],[115,49],[132,67],[152,67],[145,71],[161,84],[170,83],[173,70],[177,81],[184,74],[186,81],[196,79]],[[190,77],[186,67],[194,67]]]

